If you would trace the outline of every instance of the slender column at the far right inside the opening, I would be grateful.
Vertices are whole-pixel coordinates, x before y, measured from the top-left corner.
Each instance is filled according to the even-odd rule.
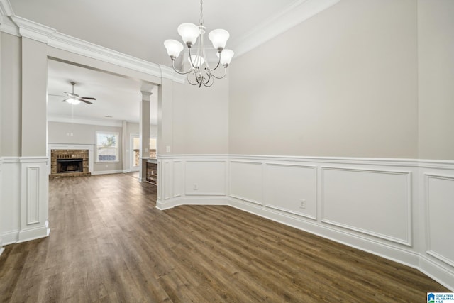
[[[139,140],[140,140],[140,167],[139,182],[147,177],[147,160],[150,158],[150,96],[151,92],[142,91],[140,102]]]

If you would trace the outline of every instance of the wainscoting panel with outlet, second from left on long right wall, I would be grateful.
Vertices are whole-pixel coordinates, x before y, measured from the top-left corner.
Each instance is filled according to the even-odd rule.
[[[316,219],[316,166],[267,163],[264,192],[265,206]]]

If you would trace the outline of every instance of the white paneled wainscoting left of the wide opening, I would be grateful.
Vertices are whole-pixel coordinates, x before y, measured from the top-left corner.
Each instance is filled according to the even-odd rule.
[[[5,157],[1,165],[3,244],[48,236],[48,158]]]

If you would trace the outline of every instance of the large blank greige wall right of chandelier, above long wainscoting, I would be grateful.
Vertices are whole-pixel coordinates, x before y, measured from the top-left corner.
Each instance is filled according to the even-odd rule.
[[[234,60],[230,153],[417,158],[416,30],[416,1],[343,0]]]

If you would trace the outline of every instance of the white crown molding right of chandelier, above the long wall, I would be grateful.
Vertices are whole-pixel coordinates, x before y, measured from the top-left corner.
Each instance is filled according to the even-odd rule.
[[[341,0],[297,0],[289,4],[275,16],[255,26],[231,41],[231,48],[235,50],[235,57],[240,57],[259,45],[275,38],[284,31],[297,26],[299,23],[315,16],[317,13],[328,9]]]

